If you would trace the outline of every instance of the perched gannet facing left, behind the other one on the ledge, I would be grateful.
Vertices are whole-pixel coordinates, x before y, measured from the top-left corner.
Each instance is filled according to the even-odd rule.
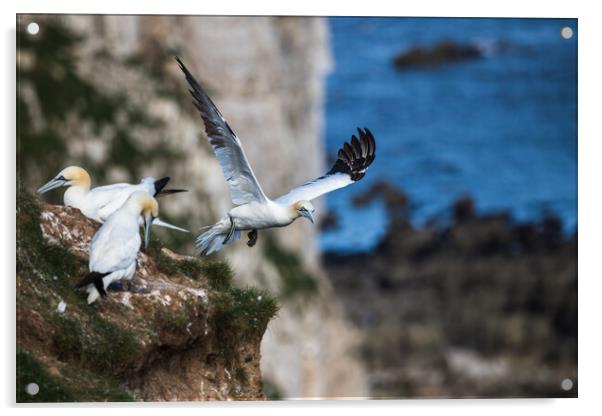
[[[119,209],[128,197],[136,191],[146,191],[151,196],[186,192],[185,189],[163,189],[169,182],[169,176],[155,181],[154,178],[143,178],[139,184],[116,183],[113,185],[98,186],[90,189],[90,175],[85,169],[78,166],[69,166],[54,177],[46,185],[38,189],[43,194],[55,188],[68,186],[63,195],[63,203],[67,206],[78,208],[82,214],[98,222],[105,220]],[[156,219],[153,223],[161,227],[188,232],[183,228],[168,224]]]

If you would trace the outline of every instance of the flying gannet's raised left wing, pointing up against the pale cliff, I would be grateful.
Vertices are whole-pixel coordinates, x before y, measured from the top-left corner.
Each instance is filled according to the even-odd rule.
[[[224,178],[230,186],[232,203],[243,205],[253,201],[266,202],[267,197],[261,186],[259,186],[259,182],[257,182],[240,140],[213,104],[211,98],[205,94],[205,91],[188,71],[188,68],[180,58],[176,57],[176,60],[184,75],[186,75],[186,81],[188,81],[191,88],[192,102],[201,113],[209,143],[222,167]]]

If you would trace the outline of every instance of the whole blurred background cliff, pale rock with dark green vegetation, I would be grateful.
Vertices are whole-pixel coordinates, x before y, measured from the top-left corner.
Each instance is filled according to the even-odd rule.
[[[21,16],[21,29],[34,19],[38,37],[21,32],[18,47],[19,167],[29,189],[66,164],[85,165],[96,184],[169,174],[190,192],[162,199],[162,217],[197,230],[223,215],[227,187],[175,54],[245,143],[268,195],[323,173],[324,19],[37,15]],[[217,257],[239,286],[280,300],[261,346],[274,396],[366,396],[357,336],[319,264],[316,233],[297,221]],[[190,235],[157,234],[193,253]]]

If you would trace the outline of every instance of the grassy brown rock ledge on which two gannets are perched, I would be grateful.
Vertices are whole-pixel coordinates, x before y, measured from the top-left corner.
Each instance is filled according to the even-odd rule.
[[[88,305],[75,284],[99,225],[24,192],[18,202],[18,401],[265,398],[260,343],[277,311],[268,293],[155,241],[138,256],[134,290]]]

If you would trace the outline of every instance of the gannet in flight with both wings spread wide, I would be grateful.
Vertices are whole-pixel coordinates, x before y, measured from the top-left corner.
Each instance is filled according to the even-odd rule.
[[[176,60],[191,87],[193,104],[201,114],[209,143],[228,182],[232,203],[237,205],[221,221],[202,229],[204,232],[196,240],[200,255],[211,254],[233,242],[240,237],[240,231],[250,231],[247,245],[252,247],[257,242],[257,230],[284,227],[299,217],[313,223],[315,208],[310,201],[359,181],[374,161],[374,137],[368,129],[358,129],[359,139],[353,135],[351,143],[344,144],[328,173],[280,198],[269,199],[257,182],[238,137],[182,61]]]

